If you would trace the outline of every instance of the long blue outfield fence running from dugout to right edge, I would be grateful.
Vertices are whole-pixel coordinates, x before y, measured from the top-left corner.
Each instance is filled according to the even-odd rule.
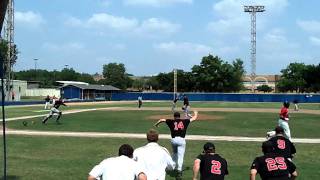
[[[231,94],[231,93],[184,93],[190,101],[230,101],[230,102],[293,102],[320,103],[320,94]],[[115,93],[112,101],[137,100],[173,100],[173,93]]]

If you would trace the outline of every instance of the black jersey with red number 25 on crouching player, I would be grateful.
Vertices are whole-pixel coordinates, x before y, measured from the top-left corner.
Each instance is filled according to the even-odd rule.
[[[289,174],[296,170],[296,166],[277,153],[267,153],[257,157],[251,169],[256,169],[262,180],[289,180]]]

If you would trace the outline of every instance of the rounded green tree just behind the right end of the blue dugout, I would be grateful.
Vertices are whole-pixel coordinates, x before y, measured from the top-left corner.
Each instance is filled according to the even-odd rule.
[[[103,65],[103,81],[106,84],[120,89],[127,89],[132,86],[132,79],[126,73],[126,68],[122,63],[109,63]]]

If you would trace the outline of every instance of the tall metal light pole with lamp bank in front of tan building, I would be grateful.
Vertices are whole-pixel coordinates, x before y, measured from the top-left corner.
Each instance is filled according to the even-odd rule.
[[[244,6],[244,12],[251,14],[251,90],[255,89],[256,78],[256,13],[264,12],[264,6]]]

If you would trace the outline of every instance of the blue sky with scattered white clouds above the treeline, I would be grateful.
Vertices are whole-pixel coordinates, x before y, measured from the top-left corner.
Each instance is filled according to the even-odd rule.
[[[318,64],[320,1],[310,0],[15,0],[15,71],[37,67],[101,73],[124,63],[134,75],[190,71],[210,54],[244,61],[250,73],[250,15],[257,14],[257,74],[291,62]]]

